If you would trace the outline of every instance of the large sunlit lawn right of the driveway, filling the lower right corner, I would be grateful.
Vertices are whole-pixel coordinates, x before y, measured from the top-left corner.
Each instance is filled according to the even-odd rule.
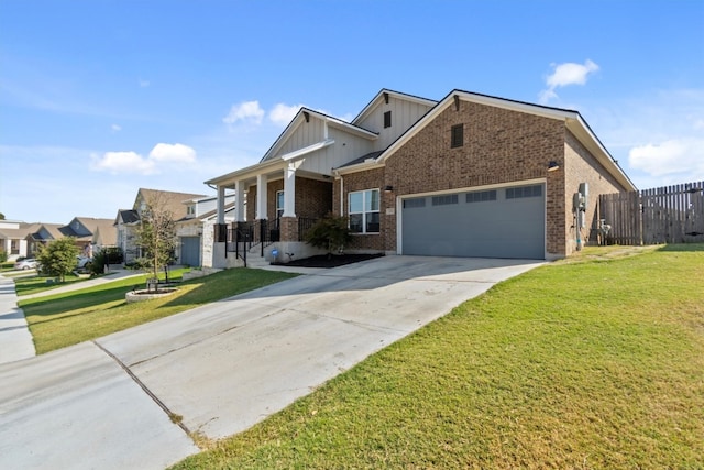
[[[704,468],[702,280],[701,244],[585,250],[175,468]]]

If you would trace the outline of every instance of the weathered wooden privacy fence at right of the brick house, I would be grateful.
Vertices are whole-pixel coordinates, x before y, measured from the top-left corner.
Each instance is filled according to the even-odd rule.
[[[704,182],[601,195],[598,218],[607,243],[704,242]]]

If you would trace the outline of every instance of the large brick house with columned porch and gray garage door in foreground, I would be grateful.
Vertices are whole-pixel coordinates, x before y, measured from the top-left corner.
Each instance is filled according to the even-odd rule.
[[[600,194],[635,189],[578,111],[462,90],[384,89],[351,122],[302,108],[258,164],[206,183],[234,189],[235,226],[246,194],[246,219],[297,258],[312,253],[299,228],[328,211],[349,217],[351,250],[564,258],[596,241]],[[216,267],[232,265],[222,232]]]

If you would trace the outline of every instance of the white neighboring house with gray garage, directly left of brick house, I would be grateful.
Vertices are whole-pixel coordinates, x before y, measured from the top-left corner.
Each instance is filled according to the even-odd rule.
[[[215,196],[184,201],[186,217],[176,221],[177,262],[189,266],[212,266],[212,244],[217,221]],[[226,222],[234,221],[234,195],[224,198]]]

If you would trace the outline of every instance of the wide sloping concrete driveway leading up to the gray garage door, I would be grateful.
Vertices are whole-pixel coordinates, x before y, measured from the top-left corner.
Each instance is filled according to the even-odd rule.
[[[0,365],[0,468],[167,467],[541,263],[385,256]]]

